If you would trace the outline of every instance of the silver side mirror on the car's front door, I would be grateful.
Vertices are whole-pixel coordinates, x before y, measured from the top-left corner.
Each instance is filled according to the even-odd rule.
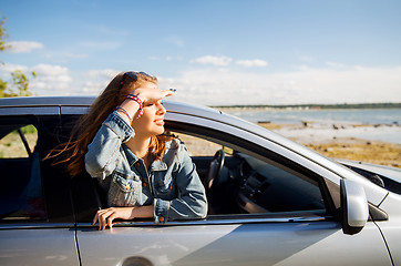
[[[359,233],[369,216],[368,201],[363,187],[350,180],[340,181],[342,232],[348,235]]]

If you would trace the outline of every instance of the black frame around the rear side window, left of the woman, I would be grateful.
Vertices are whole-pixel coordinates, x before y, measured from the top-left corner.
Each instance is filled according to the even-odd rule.
[[[65,175],[63,166],[54,166],[51,160],[43,160],[58,144],[58,132],[61,130],[59,108],[1,108],[0,121],[29,121],[38,131],[38,152],[42,182],[42,197],[45,205],[45,219],[3,219],[1,228],[47,228],[73,227],[74,217],[71,205],[70,176]],[[6,114],[6,115],[4,115]],[[52,141],[52,143],[49,143]],[[49,171],[50,170],[50,171]],[[59,178],[54,177],[56,175]],[[59,187],[59,188],[58,188]],[[60,187],[62,187],[60,190]]]

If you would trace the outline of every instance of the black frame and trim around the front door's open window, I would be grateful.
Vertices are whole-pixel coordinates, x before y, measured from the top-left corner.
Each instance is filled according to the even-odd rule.
[[[192,131],[189,131],[188,129],[192,129]],[[204,134],[208,136],[209,141],[219,143],[222,145],[233,145],[233,142],[235,142],[235,140],[238,140],[236,136],[234,135],[229,135],[226,132],[219,132],[217,130],[213,130],[213,129],[208,129],[208,127],[204,127],[204,126],[199,126],[199,125],[195,125],[195,124],[185,124],[185,123],[179,123],[179,122],[171,122],[167,121],[166,122],[166,129],[167,130],[172,130],[174,132],[182,132],[188,135],[194,135],[194,136],[200,136],[202,139],[206,139],[204,137]],[[199,133],[195,133],[195,132],[203,132],[204,134],[199,135]],[[205,133],[207,132],[207,133]],[[245,145],[245,144],[243,144]],[[276,154],[271,151],[266,150],[263,146],[256,145],[254,143],[246,143],[246,145],[248,145],[246,152],[250,152],[251,155],[256,155],[259,158],[261,158],[263,161],[267,160],[266,154],[268,154],[269,157],[274,156],[277,157],[276,161],[271,161],[268,160],[269,163],[275,162],[277,163],[277,161],[280,161],[280,163],[285,163],[287,168],[291,168],[291,167],[296,167],[297,170],[300,170],[301,174],[307,174],[309,177],[313,178],[320,188],[321,192],[321,196],[322,200],[325,202],[325,206],[326,209],[321,211],[321,209],[312,209],[312,211],[295,211],[295,212],[279,212],[279,213],[260,213],[260,214],[233,214],[233,215],[208,215],[205,219],[198,219],[198,221],[171,221],[168,222],[168,225],[213,225],[213,224],[243,224],[243,223],[291,223],[291,222],[318,222],[318,221],[338,221],[338,216],[337,216],[337,212],[336,212],[336,205],[332,202],[331,198],[331,194],[329,192],[329,190],[327,188],[327,183],[325,182],[325,178],[322,178],[321,176],[317,175],[313,172],[310,172],[308,170],[306,170],[302,165],[296,164],[295,162],[279,155]],[[241,145],[236,144],[236,149],[243,150],[244,147],[241,147]],[[291,170],[294,171],[294,170]],[[92,178],[89,176],[89,178]],[[75,184],[75,187],[79,187],[81,190],[82,188],[82,180],[79,180],[79,177],[75,178],[75,181],[78,181],[80,184]],[[86,181],[88,182],[88,181]],[[91,190],[95,190],[93,187],[93,184],[91,184],[91,182],[89,182],[88,187],[91,187]],[[333,186],[336,186],[335,184],[332,184]],[[78,195],[76,191],[72,191],[73,195]],[[92,206],[90,206],[89,208],[92,209],[93,215],[95,213],[96,209],[100,208],[99,206],[99,200],[97,198],[93,198],[96,195],[93,192],[90,192],[91,197],[92,198],[88,198],[85,196],[88,195],[83,195],[83,198],[81,197],[81,200],[79,200],[80,202],[84,201],[84,202],[91,202]],[[74,200],[75,198],[75,200]],[[76,196],[74,196],[74,201],[76,201]],[[79,202],[74,203],[75,206],[79,206]],[[76,208],[75,208],[76,209]],[[75,213],[75,217],[78,217],[76,223],[82,225],[82,226],[92,226],[90,223],[91,219],[89,219],[92,216],[88,216],[88,209],[82,209],[78,213]],[[83,218],[84,217],[84,218]],[[148,225],[155,225],[153,221],[151,219],[136,219],[136,221],[120,221],[117,223],[117,226],[148,226]]]

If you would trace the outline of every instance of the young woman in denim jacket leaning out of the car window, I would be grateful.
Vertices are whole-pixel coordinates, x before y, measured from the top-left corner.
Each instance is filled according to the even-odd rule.
[[[157,79],[143,72],[116,75],[80,123],[68,168],[86,170],[107,194],[109,208],[93,224],[112,227],[116,218],[203,218],[205,190],[183,143],[163,135],[166,110]]]

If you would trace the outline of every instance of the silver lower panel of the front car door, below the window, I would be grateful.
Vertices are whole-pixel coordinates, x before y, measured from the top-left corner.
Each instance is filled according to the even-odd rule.
[[[227,222],[80,227],[82,265],[391,265],[373,225],[351,237],[335,222]],[[367,241],[369,247],[358,247]]]

